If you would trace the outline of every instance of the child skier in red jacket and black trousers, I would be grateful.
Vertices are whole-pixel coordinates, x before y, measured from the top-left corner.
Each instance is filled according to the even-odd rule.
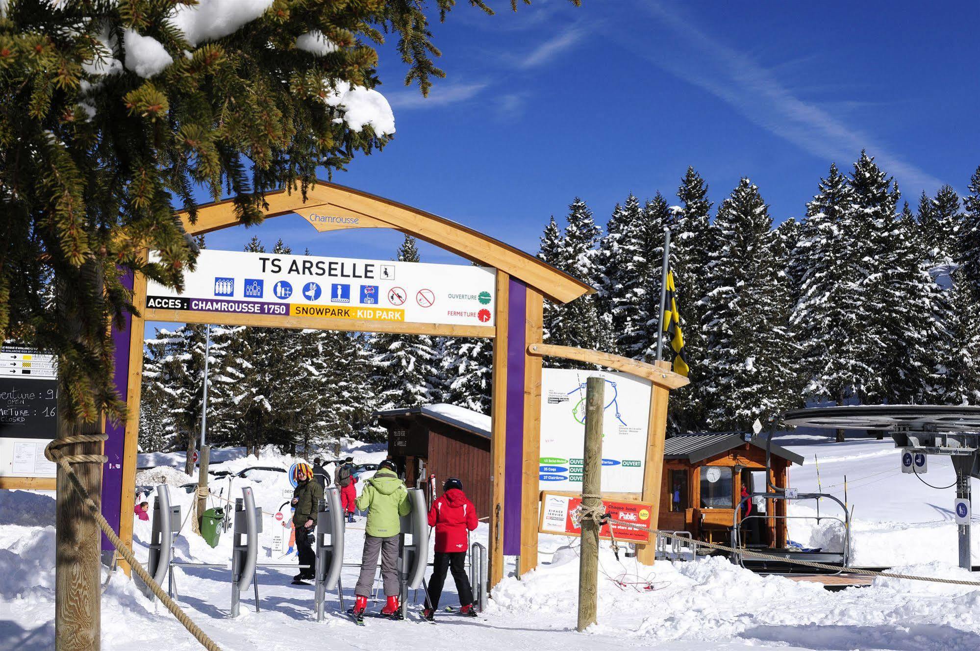
[[[435,617],[439,597],[442,596],[442,584],[446,581],[446,570],[450,569],[456,581],[456,591],[460,593],[460,613],[476,617],[473,591],[464,569],[468,532],[476,528],[477,523],[476,508],[466,499],[463,482],[456,477],[446,479],[442,490],[442,497],[433,502],[429,509],[429,526],[435,527],[435,561],[428,582],[428,607],[422,611],[422,616],[426,620]]]

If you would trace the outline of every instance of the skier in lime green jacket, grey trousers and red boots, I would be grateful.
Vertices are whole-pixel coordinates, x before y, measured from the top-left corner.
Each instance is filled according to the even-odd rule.
[[[402,516],[412,511],[409,490],[396,474],[395,462],[385,459],[377,473],[365,482],[357,499],[359,511],[368,511],[365,527],[365,549],[361,560],[361,576],[354,589],[357,597],[354,614],[361,617],[368,607],[368,595],[374,583],[377,556],[381,554],[381,576],[384,594],[388,598],[382,615],[398,615],[398,536],[402,532]]]

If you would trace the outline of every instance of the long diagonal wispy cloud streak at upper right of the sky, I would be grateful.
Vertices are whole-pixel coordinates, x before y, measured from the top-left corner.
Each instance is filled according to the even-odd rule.
[[[903,184],[927,190],[943,184],[888,151],[867,133],[845,124],[816,103],[801,99],[779,81],[774,69],[763,68],[752,57],[709,36],[672,7],[660,2],[639,4],[691,47],[651,48],[648,42],[634,49],[672,75],[721,98],[753,123],[815,156],[846,164],[861,149],[867,149]]]

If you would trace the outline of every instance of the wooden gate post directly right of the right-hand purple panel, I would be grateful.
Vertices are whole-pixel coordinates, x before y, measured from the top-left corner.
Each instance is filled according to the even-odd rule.
[[[539,343],[544,321],[544,300],[540,292],[528,287],[524,341]],[[538,476],[541,466],[541,371],[540,355],[524,353],[524,457],[520,492],[520,567],[521,576],[538,567],[538,509],[541,493]]]

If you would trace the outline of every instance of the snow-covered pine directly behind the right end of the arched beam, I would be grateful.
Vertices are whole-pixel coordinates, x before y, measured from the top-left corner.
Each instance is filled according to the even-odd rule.
[[[554,218],[545,229],[538,257],[592,286],[600,284],[596,247],[602,229],[596,225],[585,202],[575,197],[568,206],[567,225],[557,243],[553,228],[557,228]],[[597,350],[609,350],[614,345],[609,316],[601,316],[594,294],[581,296],[566,305],[549,306],[545,311],[544,330],[545,340],[552,344]],[[557,363],[556,366],[574,368],[576,365]]]

